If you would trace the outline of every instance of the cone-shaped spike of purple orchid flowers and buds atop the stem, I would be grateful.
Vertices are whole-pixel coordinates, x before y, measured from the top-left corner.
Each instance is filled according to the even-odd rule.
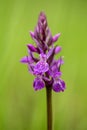
[[[61,79],[61,65],[64,63],[62,57],[55,59],[54,56],[61,51],[60,46],[54,43],[60,37],[60,33],[52,36],[47,24],[46,16],[40,13],[37,26],[30,35],[36,46],[28,44],[28,56],[21,59],[22,63],[28,65],[29,72],[35,76],[33,87],[40,90],[44,87],[51,87],[55,92],[63,92],[66,88],[65,82]],[[35,54],[38,54],[38,58]]]

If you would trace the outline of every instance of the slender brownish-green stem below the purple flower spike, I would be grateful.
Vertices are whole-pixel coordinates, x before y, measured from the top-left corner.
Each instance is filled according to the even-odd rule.
[[[46,87],[47,96],[47,130],[52,130],[52,88]]]

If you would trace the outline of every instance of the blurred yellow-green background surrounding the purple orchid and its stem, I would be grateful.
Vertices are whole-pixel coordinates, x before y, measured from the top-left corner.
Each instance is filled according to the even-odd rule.
[[[61,32],[67,89],[53,92],[54,130],[87,130],[87,0],[0,0],[0,130],[46,130],[45,89],[19,61],[34,43],[40,11],[52,34]]]

